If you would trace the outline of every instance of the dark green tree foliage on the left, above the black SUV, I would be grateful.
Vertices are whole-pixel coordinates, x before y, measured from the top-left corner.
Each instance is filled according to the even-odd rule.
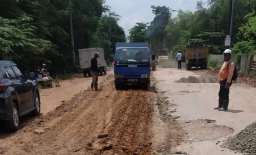
[[[78,49],[103,47],[106,58],[116,41],[125,41],[105,0],[71,1],[76,65]],[[69,1],[0,1],[0,60],[13,60],[23,68],[46,63],[52,71],[72,69]],[[103,16],[109,13],[109,16]],[[110,27],[110,28],[109,28]]]

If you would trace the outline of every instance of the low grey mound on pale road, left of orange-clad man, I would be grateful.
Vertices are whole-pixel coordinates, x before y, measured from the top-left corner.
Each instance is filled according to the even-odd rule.
[[[209,77],[189,76],[188,78],[182,77],[180,80],[177,80],[175,82],[178,82],[178,83],[217,83],[218,78],[214,77],[214,76],[209,76]]]

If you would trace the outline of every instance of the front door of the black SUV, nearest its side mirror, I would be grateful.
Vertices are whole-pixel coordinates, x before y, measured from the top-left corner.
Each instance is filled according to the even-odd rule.
[[[24,75],[23,72],[16,65],[12,66],[13,72],[16,75],[16,79],[20,80],[20,83],[23,84],[23,101],[25,105],[25,110],[31,109],[34,107],[34,95],[32,91],[32,81]]]

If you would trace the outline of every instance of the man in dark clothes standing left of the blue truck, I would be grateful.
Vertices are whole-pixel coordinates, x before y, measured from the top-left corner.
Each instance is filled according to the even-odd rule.
[[[96,52],[94,54],[94,57],[91,60],[91,75],[93,77],[93,81],[91,84],[91,88],[93,90],[98,90],[98,61],[97,58],[100,57],[100,54],[98,54],[98,52]]]

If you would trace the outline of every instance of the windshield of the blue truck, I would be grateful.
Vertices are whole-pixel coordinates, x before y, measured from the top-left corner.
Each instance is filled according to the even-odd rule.
[[[118,49],[116,50],[116,62],[149,62],[148,49]]]

